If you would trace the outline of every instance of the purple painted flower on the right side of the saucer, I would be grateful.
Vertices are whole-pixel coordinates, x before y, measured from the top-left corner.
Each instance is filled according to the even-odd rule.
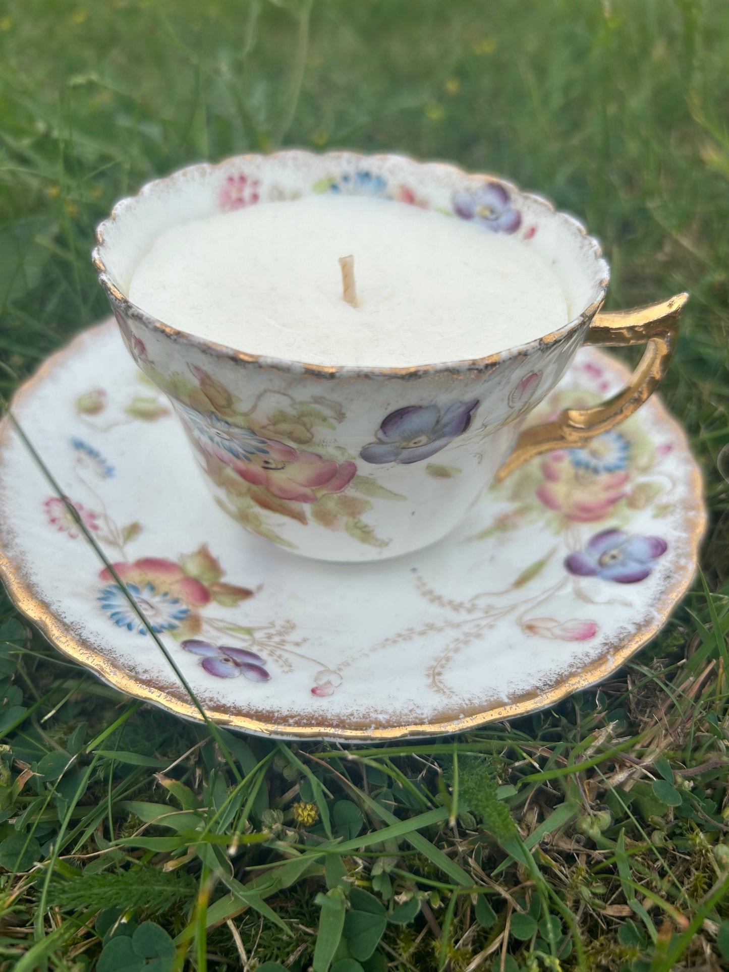
[[[653,570],[653,562],[668,549],[661,537],[639,537],[622,530],[604,530],[595,534],[584,550],[571,553],[565,560],[570,573],[598,576],[618,584],[644,580]]]

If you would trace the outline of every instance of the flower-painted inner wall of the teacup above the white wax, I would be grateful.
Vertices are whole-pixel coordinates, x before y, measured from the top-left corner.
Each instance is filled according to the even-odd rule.
[[[280,204],[307,193],[330,191],[375,195],[392,200],[393,205],[424,206],[508,233],[556,275],[569,311],[560,333],[584,320],[605,297],[608,264],[597,240],[573,217],[493,176],[404,156],[314,155],[293,150],[192,165],[117,203],[97,229],[93,261],[102,284],[126,302],[139,261],[172,226],[247,205]],[[148,324],[156,323],[144,308],[129,304],[128,309]],[[158,323],[175,328],[174,321]]]

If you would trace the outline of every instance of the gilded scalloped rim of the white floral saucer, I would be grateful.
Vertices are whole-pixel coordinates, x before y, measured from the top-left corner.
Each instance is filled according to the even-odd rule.
[[[11,402],[11,408],[22,399],[32,395],[34,391],[50,377],[55,368],[63,364],[67,358],[72,358],[81,347],[100,335],[105,330],[113,329],[116,323],[104,322],[91,330],[78,335],[65,348],[53,354],[38,371],[29,378],[16,392]],[[614,359],[612,359],[614,361]],[[627,375],[628,369],[622,367]],[[690,541],[690,557],[685,559],[677,568],[674,584],[662,592],[661,598],[654,606],[654,616],[657,620],[650,626],[634,634],[626,642],[608,646],[605,653],[583,669],[562,680],[559,685],[543,692],[535,691],[508,704],[498,704],[482,712],[475,712],[464,718],[447,717],[443,721],[433,723],[415,723],[412,725],[388,726],[369,731],[342,728],[327,725],[287,725],[277,722],[265,722],[243,715],[231,715],[215,709],[206,709],[206,715],[212,721],[226,726],[228,729],[240,729],[260,736],[273,736],[281,739],[335,739],[352,743],[384,742],[399,740],[415,736],[438,736],[453,732],[463,732],[477,729],[489,722],[515,718],[538,712],[549,706],[556,705],[568,695],[580,689],[589,688],[614,672],[627,662],[643,644],[649,642],[669,619],[671,612],[685,594],[698,567],[698,553],[707,523],[707,512],[703,498],[703,484],[701,473],[696,461],[691,456],[688,440],[677,420],[667,411],[663,402],[653,397],[654,407],[658,409],[658,416],[668,426],[673,434],[681,441],[690,458],[691,497],[692,506],[685,511],[687,537]],[[9,447],[13,429],[7,415],[0,422],[0,471],[2,470],[3,452]],[[0,520],[0,579],[16,608],[45,635],[58,650],[67,658],[80,663],[90,669],[95,675],[119,689],[132,698],[148,702],[167,712],[173,712],[192,721],[201,722],[199,712],[191,703],[182,702],[168,692],[149,685],[140,684],[129,676],[121,666],[111,662],[90,642],[76,636],[70,625],[65,624],[33,590],[30,578],[24,576],[22,565],[14,563],[6,553],[4,547],[6,538],[3,523]]]

